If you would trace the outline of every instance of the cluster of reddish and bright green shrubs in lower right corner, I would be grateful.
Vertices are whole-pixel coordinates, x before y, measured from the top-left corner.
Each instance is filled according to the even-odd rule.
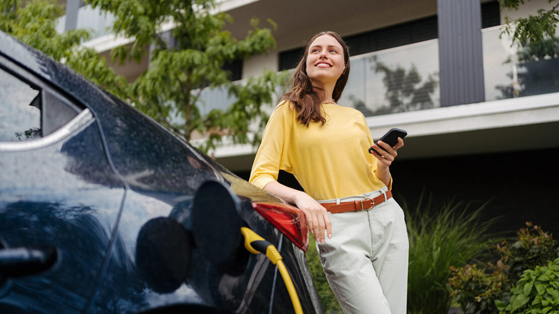
[[[559,313],[559,246],[551,234],[527,222],[495,252],[496,263],[451,267],[452,296],[466,314]]]

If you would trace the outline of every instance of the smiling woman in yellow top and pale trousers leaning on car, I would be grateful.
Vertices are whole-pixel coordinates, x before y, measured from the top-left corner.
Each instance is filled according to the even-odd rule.
[[[349,68],[338,34],[312,37],[264,130],[249,181],[305,213],[344,313],[403,314],[408,236],[391,198],[389,166],[404,141],[394,148],[380,141],[381,150],[362,113],[336,103]],[[371,146],[382,155],[369,154]],[[278,183],[280,169],[295,175],[305,192]]]

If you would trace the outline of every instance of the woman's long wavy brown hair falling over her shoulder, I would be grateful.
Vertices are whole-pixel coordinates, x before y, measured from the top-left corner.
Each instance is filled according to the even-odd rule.
[[[323,116],[321,111],[321,103],[322,99],[324,98],[324,90],[319,87],[312,87],[311,79],[309,75],[307,75],[307,56],[309,55],[309,47],[312,42],[322,35],[330,35],[334,37],[339,44],[342,46],[344,51],[344,61],[345,61],[345,70],[338,78],[335,86],[334,91],[332,92],[332,98],[334,101],[337,102],[338,99],[342,96],[342,92],[345,88],[345,84],[348,82],[349,77],[349,48],[345,44],[344,40],[340,35],[336,34],[335,32],[325,31],[319,32],[318,34],[314,35],[312,39],[307,44],[305,48],[305,54],[301,61],[299,61],[299,65],[295,68],[295,73],[291,76],[291,88],[287,93],[285,93],[282,97],[282,100],[291,102],[293,107],[299,113],[297,115],[297,121],[301,122],[301,124],[309,126],[309,123],[312,122],[322,122],[322,125],[326,122],[326,118]]]

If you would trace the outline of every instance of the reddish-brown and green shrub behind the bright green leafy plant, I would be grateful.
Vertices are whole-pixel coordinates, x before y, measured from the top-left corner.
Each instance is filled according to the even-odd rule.
[[[472,264],[452,267],[449,279],[452,295],[466,314],[489,314],[510,302],[510,289],[517,284],[524,270],[547,264],[559,256],[559,247],[551,234],[527,222],[517,239],[504,240],[495,247],[500,259],[496,264]],[[519,302],[519,301],[517,301]]]

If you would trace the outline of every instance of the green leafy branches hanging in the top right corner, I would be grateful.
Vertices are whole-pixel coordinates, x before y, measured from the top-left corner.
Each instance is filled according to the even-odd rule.
[[[527,2],[530,0],[527,0]],[[513,34],[513,44],[517,42],[519,45],[526,43],[533,45],[546,37],[555,35],[557,23],[559,22],[559,0],[547,0],[549,7],[547,9],[539,9],[537,15],[518,18],[513,20],[508,16],[504,17],[505,28],[501,35]],[[501,0],[501,9],[518,10],[520,4],[524,4],[524,0]],[[553,6],[553,3],[555,6]],[[513,25],[514,24],[514,25]]]

